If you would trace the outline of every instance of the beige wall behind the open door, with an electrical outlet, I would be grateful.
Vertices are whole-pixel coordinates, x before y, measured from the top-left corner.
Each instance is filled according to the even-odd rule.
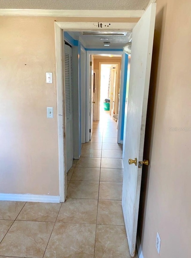
[[[191,127],[191,1],[157,1],[147,140],[150,166],[142,186],[139,233],[144,258],[157,258],[157,231],[161,258],[191,257],[191,132],[169,127]],[[155,89],[156,87],[156,89]],[[149,132],[150,131],[150,132]],[[147,144],[145,154],[148,154]],[[144,156],[147,158],[148,156]],[[142,225],[142,230],[140,226]]]

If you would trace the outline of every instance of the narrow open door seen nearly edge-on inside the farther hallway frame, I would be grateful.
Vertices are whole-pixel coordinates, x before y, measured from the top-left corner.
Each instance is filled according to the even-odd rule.
[[[90,140],[93,133],[93,56],[90,56]]]

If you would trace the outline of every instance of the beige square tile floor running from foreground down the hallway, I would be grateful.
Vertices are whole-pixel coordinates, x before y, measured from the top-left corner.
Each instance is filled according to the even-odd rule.
[[[0,202],[0,258],[130,257],[116,137],[116,122],[105,112],[67,175],[66,202]]]

